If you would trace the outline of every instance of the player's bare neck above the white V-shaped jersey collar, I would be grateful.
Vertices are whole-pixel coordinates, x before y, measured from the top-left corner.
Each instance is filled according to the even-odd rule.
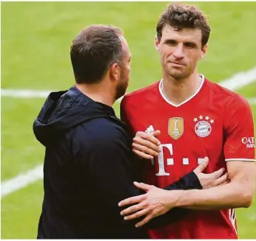
[[[181,80],[175,80],[173,77],[164,76],[161,89],[164,97],[175,105],[179,105],[198,91],[201,82],[202,79],[197,71]]]

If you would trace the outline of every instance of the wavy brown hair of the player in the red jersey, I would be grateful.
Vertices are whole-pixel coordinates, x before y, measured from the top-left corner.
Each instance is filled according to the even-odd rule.
[[[183,28],[201,29],[202,46],[205,46],[209,40],[211,29],[209,27],[208,19],[197,7],[185,6],[177,3],[169,4],[158,20],[156,27],[158,41],[161,41],[162,30],[166,24],[177,31],[181,31]]]

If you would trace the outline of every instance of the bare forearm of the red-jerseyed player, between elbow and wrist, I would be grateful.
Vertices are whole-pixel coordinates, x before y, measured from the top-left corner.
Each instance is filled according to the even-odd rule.
[[[249,207],[252,193],[238,181],[203,190],[179,191],[175,206],[186,209],[232,209]]]

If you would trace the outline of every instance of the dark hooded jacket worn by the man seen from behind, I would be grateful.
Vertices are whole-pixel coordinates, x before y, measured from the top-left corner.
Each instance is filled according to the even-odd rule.
[[[124,221],[120,215],[118,202],[140,194],[133,185],[139,180],[138,163],[126,125],[110,106],[93,101],[75,86],[53,92],[33,131],[46,147],[39,239],[147,237],[145,228],[135,228],[138,220]],[[189,188],[201,188],[193,173],[166,187]]]

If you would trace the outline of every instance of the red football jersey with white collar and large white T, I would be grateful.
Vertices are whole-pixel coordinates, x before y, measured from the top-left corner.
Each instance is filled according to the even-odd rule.
[[[144,163],[144,182],[163,188],[198,167],[205,172],[226,168],[226,161],[255,161],[252,111],[246,99],[204,79],[198,91],[180,105],[169,102],[162,81],[127,94],[121,119],[133,134],[161,130],[161,153]],[[238,238],[235,210],[191,210],[182,220],[149,231],[157,239]]]

